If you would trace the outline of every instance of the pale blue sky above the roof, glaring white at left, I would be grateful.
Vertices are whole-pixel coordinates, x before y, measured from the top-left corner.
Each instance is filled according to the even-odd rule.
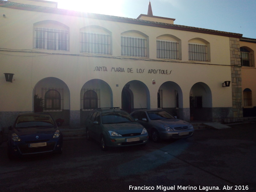
[[[52,0],[58,8],[137,18],[149,0]],[[150,0],[154,16],[174,24],[240,33],[256,39],[256,0]]]

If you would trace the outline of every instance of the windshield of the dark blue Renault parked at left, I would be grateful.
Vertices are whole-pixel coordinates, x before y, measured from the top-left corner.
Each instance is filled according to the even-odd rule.
[[[52,127],[52,126],[54,126],[54,121],[52,117],[47,114],[19,116],[15,124],[16,128]]]

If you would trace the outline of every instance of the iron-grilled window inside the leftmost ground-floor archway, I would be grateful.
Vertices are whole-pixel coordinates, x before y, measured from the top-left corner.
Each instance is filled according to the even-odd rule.
[[[63,110],[63,88],[42,88],[42,95],[44,101],[44,111]]]

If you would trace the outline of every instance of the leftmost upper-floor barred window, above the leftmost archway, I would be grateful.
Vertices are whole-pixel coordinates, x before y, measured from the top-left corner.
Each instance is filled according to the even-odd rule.
[[[35,28],[36,49],[68,51],[68,31],[50,28]]]

